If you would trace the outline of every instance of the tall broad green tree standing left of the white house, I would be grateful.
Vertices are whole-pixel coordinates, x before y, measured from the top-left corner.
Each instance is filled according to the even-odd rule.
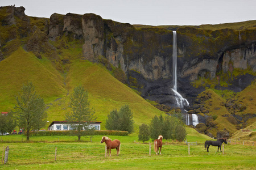
[[[27,141],[29,141],[32,129],[40,129],[46,125],[46,105],[44,100],[36,95],[32,83],[23,85],[22,92],[19,93],[19,96],[16,96],[16,102],[17,104],[11,113],[17,116],[18,125],[20,128],[24,128]]]

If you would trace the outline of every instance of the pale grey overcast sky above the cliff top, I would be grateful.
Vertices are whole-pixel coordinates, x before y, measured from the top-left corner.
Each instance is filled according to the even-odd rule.
[[[201,25],[256,20],[256,0],[0,0],[26,8],[28,16],[94,13],[103,19],[144,25]]]

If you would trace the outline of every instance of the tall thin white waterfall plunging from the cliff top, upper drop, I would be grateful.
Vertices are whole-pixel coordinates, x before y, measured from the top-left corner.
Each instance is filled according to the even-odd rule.
[[[178,92],[177,92],[177,35],[176,31],[173,32],[173,42],[172,42],[172,82],[174,83],[174,97],[176,100],[176,107],[183,108],[184,105],[189,105],[187,99],[184,99]]]

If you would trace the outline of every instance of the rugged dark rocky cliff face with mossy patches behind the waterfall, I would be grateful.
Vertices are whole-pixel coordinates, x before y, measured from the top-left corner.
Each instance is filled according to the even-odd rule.
[[[134,27],[102,19],[95,14],[52,14],[49,19],[31,18],[23,7],[1,7],[0,61],[9,56],[9,49],[24,44],[40,58],[40,54],[61,63],[54,46],[63,37],[82,42],[82,58],[101,62],[102,57],[121,68],[127,83],[142,92],[146,99],[172,105],[172,31],[160,27]],[[18,16],[16,18],[16,16]],[[39,19],[38,19],[39,20]],[[42,22],[42,20],[44,22]],[[15,25],[12,26],[12,25]],[[256,29],[175,27],[177,32],[177,91],[189,102],[205,87],[192,86],[200,78],[216,80],[216,87],[228,76],[225,88],[242,90],[234,84],[236,70],[256,71]],[[24,37],[27,37],[26,39]],[[17,41],[10,45],[9,41]],[[42,46],[44,48],[42,48]],[[68,48],[68,47],[67,47]],[[65,63],[61,63],[63,65]],[[59,68],[61,71],[61,69]],[[62,70],[63,71],[63,70]],[[240,75],[236,75],[240,76]],[[252,76],[253,79],[255,76]],[[242,78],[242,76],[241,76]],[[240,78],[240,79],[241,79]],[[244,82],[249,85],[251,81]],[[246,85],[243,86],[246,86]]]

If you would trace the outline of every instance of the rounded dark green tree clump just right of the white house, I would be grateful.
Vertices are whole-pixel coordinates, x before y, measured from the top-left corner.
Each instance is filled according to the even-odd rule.
[[[134,131],[133,112],[129,108],[129,105],[123,105],[119,112],[117,109],[111,111],[106,119],[107,130],[123,130],[128,133]]]

